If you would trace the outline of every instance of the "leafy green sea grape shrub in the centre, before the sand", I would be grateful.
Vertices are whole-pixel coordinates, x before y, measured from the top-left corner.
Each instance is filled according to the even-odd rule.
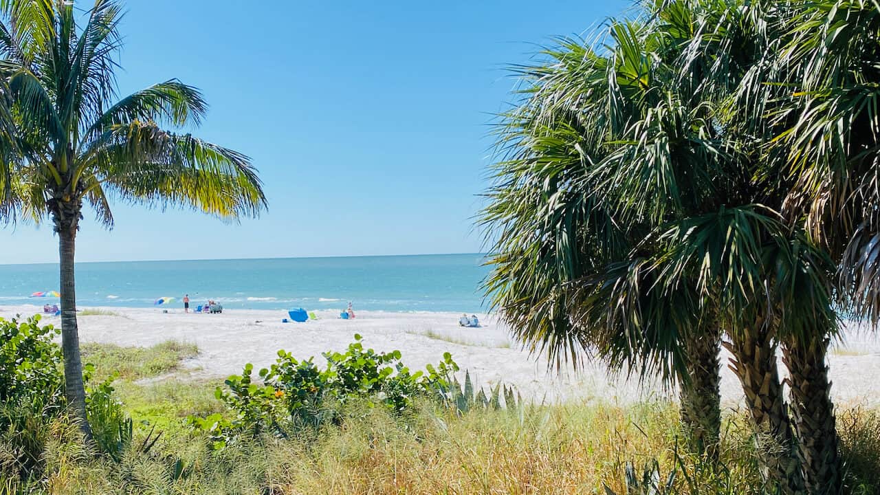
[[[226,389],[217,388],[216,397],[235,414],[190,417],[190,425],[206,432],[216,448],[223,448],[241,434],[269,433],[285,437],[304,427],[317,429],[341,420],[341,406],[351,400],[386,407],[402,413],[419,396],[441,398],[449,388],[451,374],[458,365],[449,352],[437,366],[410,372],[401,362],[400,351],[376,352],[365,349],[362,337],[343,352],[322,355],[327,366],[320,369],[312,358],[297,360],[290,352],[278,351],[275,364],[260,370],[261,383],[253,381],[253,365],[240,375],[225,380]]]

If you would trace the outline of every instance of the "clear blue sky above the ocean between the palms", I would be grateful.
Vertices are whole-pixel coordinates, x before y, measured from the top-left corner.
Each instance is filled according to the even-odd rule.
[[[199,87],[194,134],[252,157],[269,208],[228,225],[115,203],[113,231],[86,213],[77,261],[478,252],[504,68],[628,5],[130,0],[120,92]],[[0,229],[0,263],[57,259],[49,225]]]

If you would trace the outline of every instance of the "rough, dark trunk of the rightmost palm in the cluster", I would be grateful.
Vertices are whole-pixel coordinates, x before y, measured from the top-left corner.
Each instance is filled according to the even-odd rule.
[[[825,364],[827,350],[825,337],[812,338],[807,343],[791,338],[782,344],[797,454],[802,462],[804,485],[811,495],[837,495],[842,484],[831,382]]]

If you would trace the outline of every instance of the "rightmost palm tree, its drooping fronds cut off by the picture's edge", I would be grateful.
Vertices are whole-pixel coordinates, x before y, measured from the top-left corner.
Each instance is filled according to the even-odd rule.
[[[880,320],[880,9],[875,3],[820,0],[795,4],[791,36],[776,65],[789,97],[778,99],[784,130],[771,151],[793,182],[787,215],[802,223],[837,267],[833,288],[856,320]],[[765,90],[766,91],[766,90]],[[792,409],[808,488],[840,489],[841,461],[825,353],[828,336],[783,344],[791,372]]]

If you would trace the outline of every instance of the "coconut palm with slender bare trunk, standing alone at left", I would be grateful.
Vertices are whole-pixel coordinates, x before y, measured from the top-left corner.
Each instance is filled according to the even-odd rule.
[[[74,277],[84,203],[111,227],[112,198],[221,218],[255,215],[266,201],[246,156],[163,127],[202,121],[207,106],[192,86],[171,80],[115,99],[117,0],[95,0],[85,15],[61,0],[2,6],[0,70],[17,124],[19,204],[51,218],[58,235],[65,395],[88,436]]]

